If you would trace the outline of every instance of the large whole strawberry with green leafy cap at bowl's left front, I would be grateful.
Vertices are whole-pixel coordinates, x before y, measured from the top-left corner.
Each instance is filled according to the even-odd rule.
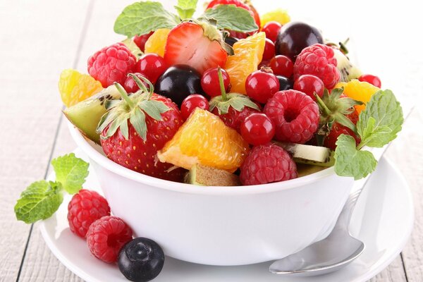
[[[166,97],[153,93],[151,82],[144,79],[149,90],[135,75],[130,75],[140,91],[128,96],[115,82],[122,100],[107,102],[97,132],[106,157],[147,176],[166,180],[183,180],[183,169],[157,161],[156,154],[182,125],[178,106]]]

